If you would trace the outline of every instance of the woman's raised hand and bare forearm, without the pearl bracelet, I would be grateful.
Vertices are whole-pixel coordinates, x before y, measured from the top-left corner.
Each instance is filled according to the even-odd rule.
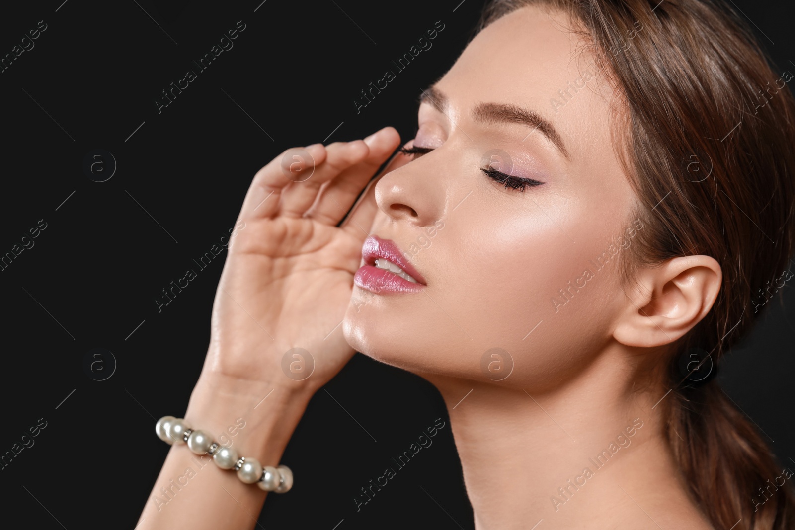
[[[254,176],[215,293],[204,369],[184,415],[193,428],[220,443],[235,436],[230,447],[263,466],[281,462],[312,394],[354,354],[339,324],[378,210],[375,181],[336,225],[399,142],[387,127],[364,141],[289,149]],[[387,170],[406,161],[396,157]],[[311,358],[304,356],[303,366],[288,358],[283,370],[292,348]],[[207,457],[173,445],[139,524],[254,528],[266,492],[233,473],[201,470],[196,458]],[[196,475],[190,486],[162,495],[182,484],[188,469]]]

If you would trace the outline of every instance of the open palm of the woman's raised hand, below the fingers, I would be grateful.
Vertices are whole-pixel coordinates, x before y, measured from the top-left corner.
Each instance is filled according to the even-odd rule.
[[[278,242],[277,234],[290,237]],[[316,362],[312,375],[328,380],[354,353],[342,334],[332,331],[351,299],[363,238],[310,219],[247,223],[224,269],[215,314],[243,327],[245,331],[228,331],[238,334],[235,340],[246,341],[244,350],[304,348]],[[271,369],[260,361],[246,356],[235,375],[251,378]]]

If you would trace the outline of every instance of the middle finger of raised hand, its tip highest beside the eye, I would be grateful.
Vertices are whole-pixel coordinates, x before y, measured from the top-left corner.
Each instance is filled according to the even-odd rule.
[[[400,145],[400,134],[394,127],[384,127],[364,142],[370,153],[361,164],[348,168],[322,188],[318,202],[306,214],[308,217],[334,225],[343,219],[374,173]]]

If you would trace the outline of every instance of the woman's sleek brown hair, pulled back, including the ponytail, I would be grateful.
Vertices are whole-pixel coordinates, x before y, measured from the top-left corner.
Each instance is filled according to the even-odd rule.
[[[758,315],[754,297],[787,269],[793,75],[774,73],[743,21],[709,0],[494,0],[480,29],[524,6],[568,13],[626,107],[616,149],[645,224],[634,266],[704,254],[723,269],[712,310],[671,352],[661,405],[692,497],[715,528],[795,526],[791,486],[770,488],[782,471],[764,440],[714,379],[694,385],[679,369],[695,346],[717,362]]]

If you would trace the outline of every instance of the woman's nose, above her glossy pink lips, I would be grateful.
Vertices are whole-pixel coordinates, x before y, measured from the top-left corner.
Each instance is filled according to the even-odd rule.
[[[447,190],[430,162],[414,161],[382,176],[375,185],[378,209],[396,221],[434,225],[444,215]]]

